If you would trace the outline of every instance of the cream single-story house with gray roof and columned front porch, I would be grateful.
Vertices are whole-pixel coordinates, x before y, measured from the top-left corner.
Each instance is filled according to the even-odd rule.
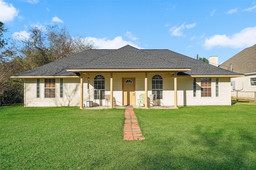
[[[158,105],[174,108],[231,105],[230,78],[237,76],[244,75],[170,50],[126,45],[86,50],[11,77],[24,79],[25,107],[82,109],[89,100],[105,106],[106,95],[110,103],[114,97],[119,106],[136,105],[140,94],[157,94]]]

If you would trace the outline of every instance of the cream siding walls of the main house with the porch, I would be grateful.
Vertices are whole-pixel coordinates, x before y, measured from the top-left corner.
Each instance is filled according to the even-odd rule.
[[[106,101],[94,99],[94,77],[97,74],[84,76],[83,103],[93,101],[93,106],[106,106]],[[101,74],[105,78],[105,94],[110,94],[110,73]],[[148,73],[148,96],[152,94],[152,76]],[[161,73],[163,78],[163,98],[159,100],[161,106],[174,106],[174,76],[169,73]],[[89,90],[87,89],[87,77],[90,78]],[[140,94],[144,93],[144,73],[114,73],[113,74],[113,96],[118,106],[123,105],[122,100],[122,78],[135,78],[136,101]],[[60,98],[60,78],[56,79],[56,98],[44,98],[44,78],[40,78],[40,98],[36,98],[36,78],[24,80],[24,106],[80,106],[80,78],[63,78],[64,97]],[[190,76],[177,77],[178,106],[200,106],[200,105],[231,105],[230,100],[230,78],[219,78],[219,97],[216,97],[215,77],[212,77],[212,97],[201,97],[200,78],[196,78],[196,97],[193,97],[193,78]],[[89,92],[89,93],[88,93]],[[137,103],[137,102],[136,102]]]

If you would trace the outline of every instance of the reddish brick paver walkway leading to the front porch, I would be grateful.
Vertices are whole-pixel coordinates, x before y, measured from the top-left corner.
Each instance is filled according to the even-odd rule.
[[[142,136],[140,127],[138,125],[137,117],[133,109],[126,109],[124,112],[124,140],[128,141],[142,141],[145,139]]]

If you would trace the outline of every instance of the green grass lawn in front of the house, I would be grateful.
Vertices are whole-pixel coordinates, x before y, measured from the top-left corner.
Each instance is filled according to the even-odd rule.
[[[0,169],[256,169],[256,104],[134,111],[0,107]]]

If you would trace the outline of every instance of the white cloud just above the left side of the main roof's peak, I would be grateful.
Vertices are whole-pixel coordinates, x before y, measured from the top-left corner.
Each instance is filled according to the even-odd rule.
[[[94,46],[97,49],[119,49],[121,47],[124,47],[125,45],[131,45],[132,47],[143,49],[142,47],[139,47],[138,45],[130,41],[123,40],[121,36],[118,36],[113,40],[107,39],[106,37],[104,38],[86,37],[85,40],[88,42],[93,41]]]

